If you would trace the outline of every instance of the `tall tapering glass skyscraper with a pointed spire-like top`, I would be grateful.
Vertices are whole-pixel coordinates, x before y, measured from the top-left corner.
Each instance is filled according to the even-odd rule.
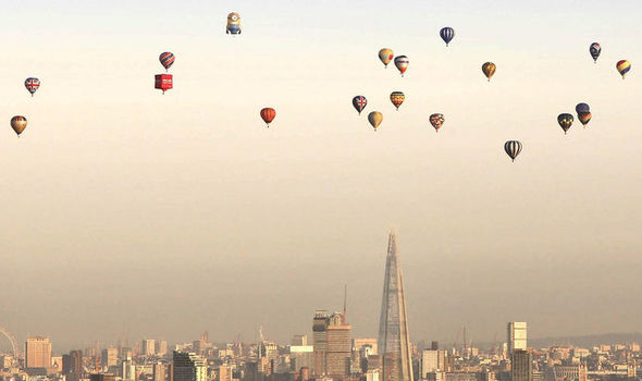
[[[387,245],[378,349],[383,356],[382,381],[412,381],[404,279],[397,253],[397,235],[394,232],[391,232]]]

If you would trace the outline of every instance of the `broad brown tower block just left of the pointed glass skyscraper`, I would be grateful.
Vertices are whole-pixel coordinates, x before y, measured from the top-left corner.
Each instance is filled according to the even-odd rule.
[[[344,314],[317,311],[312,320],[313,376],[343,380],[350,373],[351,327]]]

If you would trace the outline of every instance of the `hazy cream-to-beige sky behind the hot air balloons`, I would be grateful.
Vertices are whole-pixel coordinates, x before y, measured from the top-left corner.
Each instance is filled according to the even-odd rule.
[[[231,11],[240,36],[224,33]],[[502,340],[507,321],[531,337],[639,331],[640,12],[637,0],[5,1],[0,325],[58,353],[206,330],[249,342],[259,325],[286,343],[311,333],[316,309],[341,309],[347,284],[354,335],[374,337],[396,229],[412,341],[452,343],[461,327],[473,344]],[[404,77],[378,60],[384,47],[409,58]],[[164,96],[163,51],[176,56]],[[41,81],[34,98],[27,76]],[[581,101],[593,119],[565,136],[557,115]],[[508,139],[523,145],[514,163]]]

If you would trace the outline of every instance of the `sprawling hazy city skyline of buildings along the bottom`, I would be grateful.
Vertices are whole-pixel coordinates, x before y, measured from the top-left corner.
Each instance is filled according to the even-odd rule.
[[[346,286],[347,287],[347,286]],[[347,297],[347,296],[346,296]],[[16,340],[0,333],[11,353],[0,354],[2,381],[615,381],[639,380],[638,343],[593,347],[532,347],[528,323],[506,322],[492,345],[411,342],[397,236],[388,236],[379,335],[353,336],[347,300],[342,311],[310,314],[311,334],[276,343],[259,328],[254,343],[218,343],[203,332],[185,343],[141,339],[116,346],[57,353],[49,337]]]

